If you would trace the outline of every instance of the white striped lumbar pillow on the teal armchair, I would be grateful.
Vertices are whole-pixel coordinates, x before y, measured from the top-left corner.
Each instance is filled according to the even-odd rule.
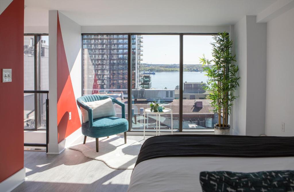
[[[101,117],[115,117],[116,112],[112,104],[111,98],[99,100],[99,101],[92,101],[92,102],[84,102],[85,105],[92,108],[93,112],[93,119],[101,118]],[[83,123],[89,121],[88,119],[88,111],[81,107],[81,112],[83,116]]]

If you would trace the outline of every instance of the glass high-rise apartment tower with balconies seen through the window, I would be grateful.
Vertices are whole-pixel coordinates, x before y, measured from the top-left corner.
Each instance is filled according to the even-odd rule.
[[[132,36],[132,89],[140,87],[141,35]],[[128,35],[83,35],[83,95],[128,90]]]

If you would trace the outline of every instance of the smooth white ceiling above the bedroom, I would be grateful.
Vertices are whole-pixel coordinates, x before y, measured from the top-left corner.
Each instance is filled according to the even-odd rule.
[[[230,25],[277,0],[25,0],[25,26],[48,26],[48,10],[88,25]]]

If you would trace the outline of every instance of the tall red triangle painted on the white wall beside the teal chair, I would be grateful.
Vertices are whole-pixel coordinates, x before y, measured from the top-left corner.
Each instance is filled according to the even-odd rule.
[[[69,120],[71,112],[71,120]],[[81,127],[57,15],[57,131],[58,143]]]

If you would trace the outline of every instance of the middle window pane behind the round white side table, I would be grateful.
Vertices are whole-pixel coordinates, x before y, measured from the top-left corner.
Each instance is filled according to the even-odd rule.
[[[180,83],[178,35],[133,35],[136,46],[132,48],[133,81],[132,88],[132,130],[143,129],[143,110],[150,108],[150,103],[156,101],[165,108],[173,110],[171,114],[161,115],[158,119],[161,131],[171,131],[179,128],[179,98],[175,98],[176,86]],[[156,128],[156,115],[145,116],[147,131]],[[148,123],[147,123],[148,122]]]

